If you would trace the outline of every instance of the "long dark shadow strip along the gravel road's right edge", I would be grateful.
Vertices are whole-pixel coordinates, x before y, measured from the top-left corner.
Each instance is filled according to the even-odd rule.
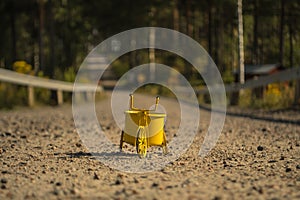
[[[209,106],[203,106],[199,105],[200,109],[206,110],[211,112],[211,108]],[[300,115],[300,109],[299,108],[287,108],[287,109],[280,109],[280,110],[273,110],[273,111],[265,111],[266,114],[272,115],[273,113],[279,113],[279,112],[288,112],[288,111],[293,111],[293,112],[298,112]],[[214,111],[214,112],[220,112],[223,113],[222,111]],[[255,111],[252,111],[255,112]],[[275,123],[289,123],[289,124],[295,124],[295,125],[300,125],[300,120],[299,119],[280,119],[280,118],[274,118],[273,116],[259,116],[258,114],[255,113],[247,113],[243,111],[238,111],[234,112],[231,110],[226,111],[226,115],[233,116],[233,117],[245,117],[245,118],[250,118],[250,119],[255,119],[255,120],[262,120],[262,121],[269,121],[269,122],[275,122]]]

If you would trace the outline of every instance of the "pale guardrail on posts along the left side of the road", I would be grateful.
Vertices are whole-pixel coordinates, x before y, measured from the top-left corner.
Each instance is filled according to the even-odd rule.
[[[103,88],[94,85],[80,83],[74,87],[73,83],[58,81],[53,79],[46,79],[26,74],[20,74],[6,69],[0,68],[0,81],[9,82],[18,85],[24,85],[28,87],[28,105],[34,105],[34,87],[47,88],[57,91],[57,103],[63,103],[63,91],[65,92],[102,92]]]

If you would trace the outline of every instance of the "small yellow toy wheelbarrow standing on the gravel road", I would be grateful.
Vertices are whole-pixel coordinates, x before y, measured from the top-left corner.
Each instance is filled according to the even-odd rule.
[[[133,95],[130,95],[130,109],[125,111],[125,128],[122,130],[120,150],[126,142],[136,147],[138,155],[146,157],[147,148],[161,146],[163,153],[167,153],[167,140],[164,131],[164,113],[155,113],[159,103],[156,97],[153,110],[138,109],[133,106]]]

